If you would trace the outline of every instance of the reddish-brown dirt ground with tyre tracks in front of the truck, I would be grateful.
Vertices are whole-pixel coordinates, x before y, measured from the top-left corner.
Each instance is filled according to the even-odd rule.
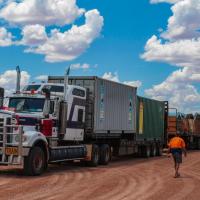
[[[143,200],[200,199],[200,152],[184,160],[181,178],[173,178],[167,157],[122,158],[109,166],[52,165],[41,177],[0,167],[1,200]]]

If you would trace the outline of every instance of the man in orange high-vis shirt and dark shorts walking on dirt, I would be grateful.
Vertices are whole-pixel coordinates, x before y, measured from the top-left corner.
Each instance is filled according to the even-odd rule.
[[[172,153],[174,159],[174,169],[175,169],[174,178],[178,178],[180,177],[179,167],[180,164],[182,163],[182,152],[184,153],[185,157],[187,155],[185,149],[185,142],[180,137],[179,133],[177,133],[176,136],[170,140],[168,146],[169,146],[168,153]]]

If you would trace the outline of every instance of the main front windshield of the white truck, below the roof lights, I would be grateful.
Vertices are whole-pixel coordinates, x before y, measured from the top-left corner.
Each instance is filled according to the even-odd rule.
[[[40,98],[10,98],[8,107],[16,112],[42,112],[45,99]]]

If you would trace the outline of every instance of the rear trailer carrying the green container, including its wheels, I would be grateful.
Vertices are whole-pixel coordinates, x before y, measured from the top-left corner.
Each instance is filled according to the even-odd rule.
[[[145,157],[162,154],[165,144],[166,102],[137,97],[136,144]]]

